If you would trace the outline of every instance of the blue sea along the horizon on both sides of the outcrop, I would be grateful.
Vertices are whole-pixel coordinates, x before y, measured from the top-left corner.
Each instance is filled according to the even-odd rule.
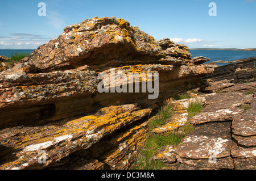
[[[0,55],[2,56],[11,56],[12,53],[18,52],[26,52],[31,53],[34,49],[24,49],[24,50],[14,50],[8,49],[3,50],[0,49]],[[229,61],[229,60],[238,60],[240,58],[256,58],[256,51],[237,51],[237,50],[189,50],[192,57],[204,56],[210,58],[208,62],[214,62],[217,60]],[[218,63],[218,66],[226,65],[225,63]]]

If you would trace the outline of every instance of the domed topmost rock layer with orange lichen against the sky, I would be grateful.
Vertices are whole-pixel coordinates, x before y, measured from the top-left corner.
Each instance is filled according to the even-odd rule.
[[[170,40],[168,40],[170,41]],[[172,44],[172,45],[171,45]],[[162,41],[131,27],[120,18],[92,18],[64,28],[59,37],[41,45],[14,66],[15,72],[47,72],[76,69],[83,65],[95,71],[135,64],[186,64],[191,54],[185,45]],[[180,58],[180,59],[179,59]],[[178,60],[179,59],[179,60]],[[27,66],[34,65],[35,69]]]

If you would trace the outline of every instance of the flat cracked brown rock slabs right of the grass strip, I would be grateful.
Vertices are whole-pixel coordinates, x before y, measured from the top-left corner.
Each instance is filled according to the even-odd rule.
[[[189,120],[194,131],[155,159],[168,163],[169,169],[255,170],[254,95],[226,92],[204,97],[206,106]]]

